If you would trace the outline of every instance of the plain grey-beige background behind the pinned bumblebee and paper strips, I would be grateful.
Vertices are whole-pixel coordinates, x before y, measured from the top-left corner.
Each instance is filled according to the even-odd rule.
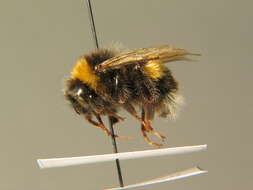
[[[168,65],[186,106],[156,119],[165,147],[207,143],[207,152],[122,162],[126,184],[199,165],[208,175],[143,189],[252,187],[252,2],[93,1],[99,43],[129,49],[172,44],[200,52]],[[62,95],[76,59],[93,49],[83,0],[0,2],[0,189],[103,189],[118,184],[114,163],[40,170],[37,158],[112,152],[111,140],[78,117]],[[121,113],[125,114],[125,113]],[[127,115],[120,151],[150,149]]]

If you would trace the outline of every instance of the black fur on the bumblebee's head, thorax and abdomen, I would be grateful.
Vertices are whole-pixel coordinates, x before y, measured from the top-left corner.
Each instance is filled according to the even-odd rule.
[[[103,61],[114,57],[115,52],[108,49],[96,50],[85,55],[92,68]],[[91,89],[78,79],[71,78],[66,82],[65,97],[78,114],[96,112],[102,115],[116,113],[123,104],[152,104],[157,109],[169,93],[178,90],[178,84],[170,70],[165,69],[165,75],[159,80],[146,76],[143,64],[133,64],[120,69],[96,73],[99,76],[97,90]],[[81,93],[78,95],[78,90]],[[171,100],[173,101],[173,100]],[[167,113],[165,113],[166,115]]]

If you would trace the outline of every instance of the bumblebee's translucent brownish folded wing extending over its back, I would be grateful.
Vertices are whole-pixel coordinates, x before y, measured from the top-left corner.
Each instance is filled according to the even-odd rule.
[[[110,69],[118,69],[130,64],[145,64],[148,61],[157,63],[168,63],[172,61],[192,61],[187,55],[199,55],[190,53],[184,49],[173,46],[158,46],[149,48],[140,48],[133,51],[121,53],[111,59],[108,59],[96,66],[96,70],[104,72]]]

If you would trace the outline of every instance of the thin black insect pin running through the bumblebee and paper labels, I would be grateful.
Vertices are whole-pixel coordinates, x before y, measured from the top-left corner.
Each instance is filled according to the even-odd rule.
[[[87,4],[87,8],[88,8],[90,26],[91,26],[91,31],[92,31],[95,47],[97,49],[99,49],[98,39],[97,39],[97,32],[96,32],[94,16],[93,16],[90,0],[86,0],[86,4]],[[109,120],[110,130],[111,130],[111,133],[112,133],[111,137],[112,137],[113,150],[114,150],[114,153],[118,153],[117,143],[116,143],[115,134],[114,134],[114,130],[113,130],[113,124],[114,124],[113,118],[109,116],[108,120]],[[122,177],[122,172],[121,172],[119,159],[116,159],[116,166],[117,166],[117,172],[118,172],[118,177],[119,177],[119,184],[120,184],[120,187],[123,187],[124,183],[123,183],[123,177]]]

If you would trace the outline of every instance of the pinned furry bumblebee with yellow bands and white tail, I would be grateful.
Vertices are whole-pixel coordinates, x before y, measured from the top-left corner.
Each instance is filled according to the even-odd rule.
[[[107,135],[112,134],[101,116],[108,116],[116,123],[124,120],[117,114],[118,110],[126,110],[140,122],[146,142],[160,146],[147,136],[151,133],[165,138],[152,128],[151,121],[155,114],[175,118],[183,100],[178,93],[178,82],[165,63],[191,61],[189,55],[198,54],[168,45],[126,52],[97,49],[77,61],[66,81],[64,95],[77,114]],[[140,115],[136,108],[140,108]]]

